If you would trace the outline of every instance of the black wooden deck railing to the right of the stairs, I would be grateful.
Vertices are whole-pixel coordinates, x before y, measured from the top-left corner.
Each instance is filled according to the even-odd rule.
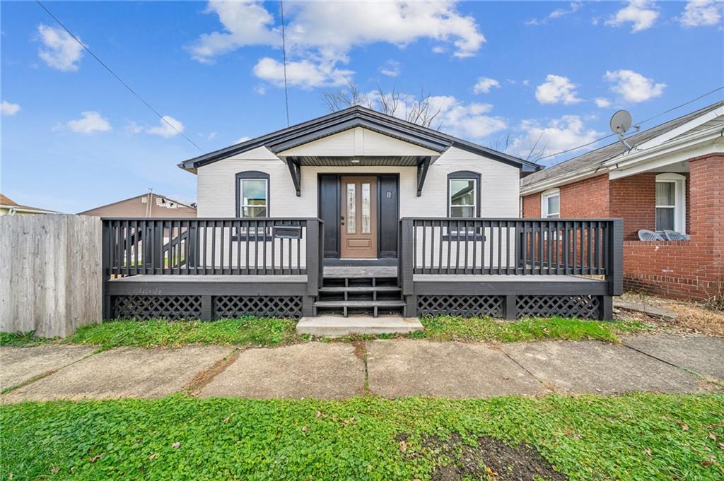
[[[403,218],[400,283],[415,274],[604,276],[622,284],[623,224],[609,218]]]

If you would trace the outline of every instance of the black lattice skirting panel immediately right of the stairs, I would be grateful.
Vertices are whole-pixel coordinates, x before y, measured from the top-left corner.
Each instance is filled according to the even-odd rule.
[[[418,315],[459,315],[463,318],[489,315],[501,318],[503,296],[418,296]]]

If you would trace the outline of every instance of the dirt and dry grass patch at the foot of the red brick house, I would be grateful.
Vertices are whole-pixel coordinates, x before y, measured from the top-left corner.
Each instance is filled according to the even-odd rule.
[[[626,294],[623,294],[622,299],[632,302],[645,302],[656,307],[673,310],[676,312],[676,318],[674,320],[662,320],[639,313],[639,315],[644,317],[639,319],[639,315],[633,314],[631,311],[625,311],[625,315],[619,315],[618,317],[642,320],[646,323],[683,333],[702,333],[708,336],[724,337],[724,312],[710,309],[702,303],[663,299],[661,297],[633,292],[626,292]]]

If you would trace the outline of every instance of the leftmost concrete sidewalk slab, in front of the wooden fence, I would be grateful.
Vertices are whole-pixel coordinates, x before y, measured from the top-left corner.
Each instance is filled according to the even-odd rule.
[[[0,347],[0,389],[18,386],[41,374],[80,361],[96,348],[92,346]]]

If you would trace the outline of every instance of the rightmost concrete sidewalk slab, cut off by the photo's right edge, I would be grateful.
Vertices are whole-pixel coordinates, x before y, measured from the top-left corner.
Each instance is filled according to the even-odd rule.
[[[626,336],[623,344],[700,375],[724,380],[724,339],[700,335]]]

